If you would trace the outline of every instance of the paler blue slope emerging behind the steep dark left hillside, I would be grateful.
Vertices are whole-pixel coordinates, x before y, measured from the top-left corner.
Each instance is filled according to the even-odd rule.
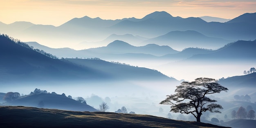
[[[117,79],[133,79],[133,80],[172,80],[177,81],[174,78],[169,78],[161,72],[150,70],[144,67],[133,67],[128,65],[121,65],[110,63],[103,60],[90,60],[90,59],[65,59],[78,65],[83,65],[92,69],[98,69],[102,72],[106,72]]]

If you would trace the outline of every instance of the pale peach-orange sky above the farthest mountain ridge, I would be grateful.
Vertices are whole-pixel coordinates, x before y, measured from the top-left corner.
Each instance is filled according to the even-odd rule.
[[[0,22],[59,26],[72,18],[143,18],[154,11],[172,16],[232,19],[256,12],[256,0],[0,0]]]

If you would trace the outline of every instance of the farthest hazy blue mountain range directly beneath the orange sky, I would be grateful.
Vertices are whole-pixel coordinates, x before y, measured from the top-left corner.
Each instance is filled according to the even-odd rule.
[[[88,42],[90,45],[93,45],[93,43],[102,42],[101,40],[105,40],[110,35],[114,36],[113,34],[125,36],[136,35],[135,37],[143,37],[146,39],[163,36],[171,31],[184,31],[181,37],[182,35],[186,37],[185,32],[196,31],[206,36],[204,38],[215,40],[212,41],[212,43],[216,43],[216,45],[218,43],[222,43],[223,45],[223,43],[227,43],[229,40],[255,40],[254,35],[256,35],[256,30],[253,29],[256,27],[255,13],[245,13],[224,23],[206,22],[201,18],[193,17],[173,17],[165,11],[156,11],[141,19],[124,18],[121,20],[102,20],[101,18],[89,18],[85,16],[83,18],[74,18],[58,27],[52,25],[34,25],[30,22],[14,22],[9,25],[1,22],[0,27],[1,33],[19,38],[22,41],[36,41],[48,47],[76,47],[79,49],[88,48],[86,46],[84,48],[79,47],[81,46],[79,45],[81,42]],[[186,41],[189,41],[191,44],[197,41],[192,39],[194,38]],[[141,38],[123,41],[129,41],[128,43],[135,45],[139,40],[141,40]],[[102,46],[106,46],[106,42],[104,43],[105,45]],[[184,43],[184,41],[179,45],[182,45],[182,43]],[[146,43],[144,43],[144,45],[146,45]],[[175,48],[175,46],[172,46],[172,43],[168,45]],[[99,45],[95,46],[99,47]],[[139,46],[139,44],[135,46]],[[194,45],[194,47],[212,49],[212,45],[209,47],[206,46],[208,46],[207,42],[202,46]],[[184,48],[185,47],[182,47],[182,49]]]

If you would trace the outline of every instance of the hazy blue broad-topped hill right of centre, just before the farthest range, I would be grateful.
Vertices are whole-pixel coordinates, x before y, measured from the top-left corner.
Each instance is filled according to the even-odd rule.
[[[229,40],[222,38],[214,38],[205,36],[198,31],[170,31],[167,34],[151,38],[142,42],[144,45],[154,43],[157,45],[168,45],[174,49],[184,49],[186,47],[203,47],[203,48],[219,48],[227,43]]]

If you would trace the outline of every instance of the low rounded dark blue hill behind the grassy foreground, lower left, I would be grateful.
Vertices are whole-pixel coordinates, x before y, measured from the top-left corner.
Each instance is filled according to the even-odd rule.
[[[72,110],[72,111],[98,111],[95,108],[87,104],[83,104],[74,99],[67,98],[60,94],[30,94],[20,97],[14,101],[10,101],[5,106],[29,106],[40,108],[54,108],[60,110]]]

